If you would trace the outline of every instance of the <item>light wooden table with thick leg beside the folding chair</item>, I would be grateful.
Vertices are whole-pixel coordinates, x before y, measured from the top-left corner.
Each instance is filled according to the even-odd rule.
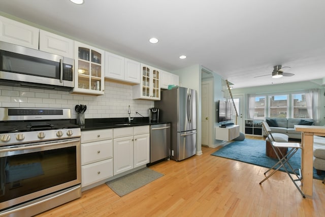
[[[307,198],[313,197],[313,145],[314,136],[325,136],[325,127],[295,125],[295,130],[301,132],[301,190]]]

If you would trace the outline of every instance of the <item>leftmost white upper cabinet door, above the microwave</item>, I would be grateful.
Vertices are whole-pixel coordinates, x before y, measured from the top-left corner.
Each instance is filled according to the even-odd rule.
[[[39,29],[0,16],[0,41],[39,49]]]

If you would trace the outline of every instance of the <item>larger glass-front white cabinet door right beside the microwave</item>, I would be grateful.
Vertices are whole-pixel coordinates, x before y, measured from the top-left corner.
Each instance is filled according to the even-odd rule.
[[[104,95],[105,51],[75,42],[73,94]]]

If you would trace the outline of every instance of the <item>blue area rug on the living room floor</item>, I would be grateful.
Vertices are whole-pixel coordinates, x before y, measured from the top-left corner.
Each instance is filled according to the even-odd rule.
[[[265,140],[245,139],[243,141],[234,141],[216,152],[212,153],[213,156],[228,158],[236,161],[241,161],[249,164],[254,164],[261,167],[270,168],[277,159],[269,158],[265,155]],[[290,158],[289,164],[294,168],[300,168],[301,150],[298,150],[295,155]],[[281,171],[284,171],[282,168]],[[319,176],[313,168],[313,178],[323,179],[325,172]]]

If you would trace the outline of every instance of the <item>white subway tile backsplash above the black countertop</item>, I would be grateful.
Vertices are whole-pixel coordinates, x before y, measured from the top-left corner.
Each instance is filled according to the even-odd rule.
[[[105,82],[105,95],[72,95],[65,91],[37,88],[0,86],[0,107],[28,108],[70,108],[72,118],[77,117],[76,105],[87,105],[85,118],[127,117],[128,105],[131,116],[149,116],[149,108],[154,106],[150,100],[133,100],[132,86],[114,82]]]

